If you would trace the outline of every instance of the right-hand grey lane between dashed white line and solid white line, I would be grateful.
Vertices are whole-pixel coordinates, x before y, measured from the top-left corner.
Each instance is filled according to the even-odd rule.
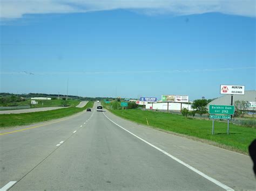
[[[10,190],[221,190],[95,112]]]

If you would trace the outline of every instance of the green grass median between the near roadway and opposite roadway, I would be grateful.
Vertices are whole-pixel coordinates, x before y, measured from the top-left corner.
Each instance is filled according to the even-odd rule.
[[[86,108],[92,108],[94,102],[88,102],[84,108],[63,108],[51,111],[39,111],[30,112],[24,114],[1,114],[0,115],[0,127],[28,125],[32,123],[38,123],[43,121],[49,121],[51,119],[57,119],[61,117],[70,116],[76,114]]]

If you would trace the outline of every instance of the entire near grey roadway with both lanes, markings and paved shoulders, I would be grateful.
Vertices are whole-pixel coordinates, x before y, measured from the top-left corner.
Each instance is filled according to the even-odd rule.
[[[248,156],[97,112],[96,106],[92,112],[1,132],[0,188],[255,189]]]

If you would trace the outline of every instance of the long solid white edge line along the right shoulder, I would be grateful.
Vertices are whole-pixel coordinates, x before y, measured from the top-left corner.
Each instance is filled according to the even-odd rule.
[[[104,114],[104,113],[103,113],[103,114]],[[205,179],[210,180],[211,182],[215,183],[215,185],[218,185],[219,187],[221,187],[221,188],[223,188],[223,189],[225,189],[225,190],[229,190],[229,191],[233,191],[233,190],[234,190],[234,189],[232,189],[232,188],[230,188],[230,187],[224,185],[224,183],[221,183],[221,182],[219,182],[218,180],[215,180],[215,179],[211,178],[210,176],[204,174],[203,172],[198,171],[198,169],[196,169],[196,168],[194,168],[194,167],[192,167],[192,166],[186,164],[186,163],[183,162],[182,160],[180,160],[180,159],[174,157],[173,155],[171,155],[171,154],[167,153],[166,151],[162,150],[161,148],[152,145],[151,143],[147,142],[147,141],[144,140],[143,138],[140,138],[140,137],[138,137],[137,135],[133,134],[133,133],[130,132],[129,130],[126,130],[126,129],[123,128],[122,126],[120,126],[120,125],[118,125],[117,123],[113,122],[113,121],[112,121],[109,117],[107,117],[105,114],[104,114],[104,116],[105,116],[107,119],[109,119],[109,121],[111,121],[112,123],[114,123],[114,124],[116,124],[117,126],[119,126],[119,128],[122,128],[123,130],[129,132],[129,133],[130,133],[131,135],[133,135],[134,137],[137,137],[138,139],[142,140],[142,141],[145,142],[146,144],[148,144],[148,145],[150,145],[150,146],[156,148],[158,151],[160,151],[160,152],[166,154],[168,157],[172,158],[173,160],[176,160],[176,161],[179,162],[181,165],[184,165],[184,166],[186,166],[187,168],[191,169],[192,171],[196,172],[197,174],[203,176]]]

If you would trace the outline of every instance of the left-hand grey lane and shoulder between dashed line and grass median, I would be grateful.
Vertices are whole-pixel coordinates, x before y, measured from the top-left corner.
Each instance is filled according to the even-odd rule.
[[[83,111],[75,116],[39,125],[2,130],[1,133],[8,133],[36,127],[0,136],[0,188],[11,180],[21,179],[31,171],[58,147],[56,145],[72,136],[81,125],[86,125],[91,115],[92,112]]]

